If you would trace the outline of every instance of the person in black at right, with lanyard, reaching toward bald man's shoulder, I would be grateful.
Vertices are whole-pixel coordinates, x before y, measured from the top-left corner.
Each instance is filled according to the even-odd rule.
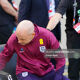
[[[66,12],[67,48],[80,49],[80,0],[61,0],[58,9],[47,26],[52,30]],[[76,28],[76,29],[74,29]],[[77,31],[76,31],[77,30]],[[79,80],[80,58],[70,58],[68,73],[71,80]]]

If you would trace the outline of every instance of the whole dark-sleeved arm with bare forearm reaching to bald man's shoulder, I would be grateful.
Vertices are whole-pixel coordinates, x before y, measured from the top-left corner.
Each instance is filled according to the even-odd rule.
[[[56,25],[59,23],[62,15],[66,12],[68,6],[69,6],[69,0],[61,0],[59,2],[56,13],[50,19],[50,21],[47,25],[47,29],[53,30],[56,27]]]

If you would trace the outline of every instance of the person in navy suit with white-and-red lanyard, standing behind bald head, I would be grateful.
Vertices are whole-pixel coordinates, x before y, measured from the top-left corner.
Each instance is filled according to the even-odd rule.
[[[30,20],[33,23],[45,28],[48,24],[49,18],[55,13],[58,3],[59,0],[21,0],[18,22],[22,20]],[[51,8],[53,9],[52,13],[49,13]],[[54,30],[52,30],[52,32],[58,41],[60,41],[60,23]]]

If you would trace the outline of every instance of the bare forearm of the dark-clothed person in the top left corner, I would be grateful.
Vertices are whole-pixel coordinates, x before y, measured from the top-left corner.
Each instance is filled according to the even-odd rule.
[[[7,0],[1,0],[0,3],[1,3],[1,7],[3,8],[3,10],[6,13],[8,13],[8,14],[14,16],[14,17],[17,16],[16,10],[12,7],[12,5]]]

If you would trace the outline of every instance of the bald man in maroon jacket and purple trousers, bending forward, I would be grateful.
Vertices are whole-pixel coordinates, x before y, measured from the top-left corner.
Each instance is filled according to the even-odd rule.
[[[18,24],[16,33],[12,34],[0,54],[0,70],[16,52],[18,80],[68,80],[62,75],[64,56],[55,58],[57,62],[55,71],[50,59],[45,57],[45,49],[58,48],[59,43],[51,32],[24,20]]]

